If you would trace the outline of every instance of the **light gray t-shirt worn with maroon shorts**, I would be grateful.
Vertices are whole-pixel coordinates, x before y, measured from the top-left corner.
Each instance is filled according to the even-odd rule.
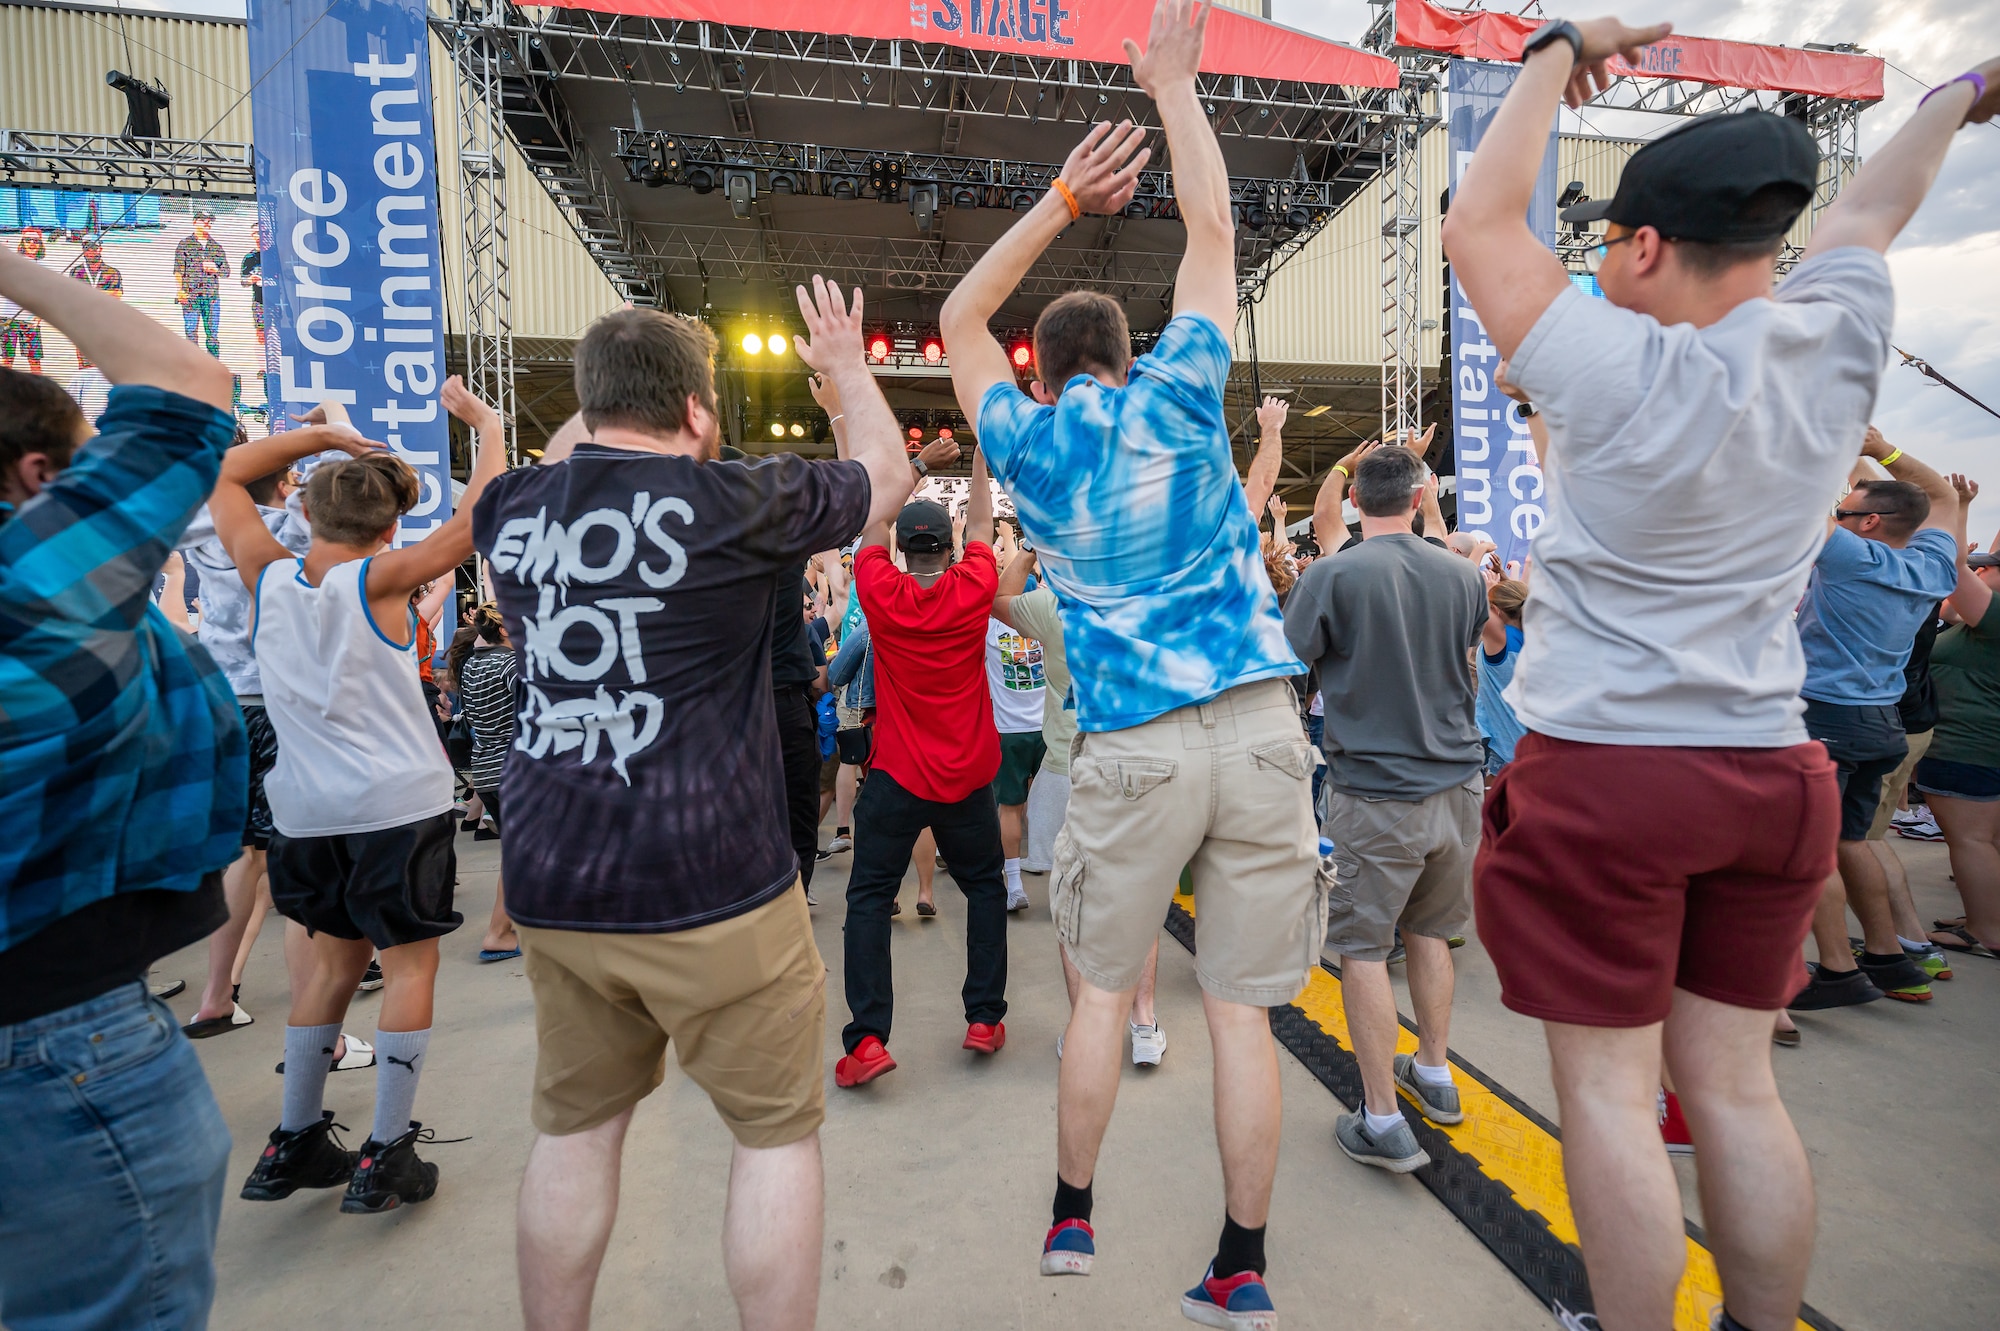
[[[1548,416],[1506,699],[1584,743],[1806,741],[1792,610],[1874,410],[1894,290],[1840,248],[1708,328],[1566,290],[1508,374]]]

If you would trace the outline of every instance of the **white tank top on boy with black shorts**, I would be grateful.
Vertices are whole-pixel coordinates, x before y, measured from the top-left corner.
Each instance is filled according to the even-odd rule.
[[[424,705],[416,632],[394,642],[368,612],[368,560],[336,564],[318,588],[274,560],[256,586],[250,650],[278,765],[264,777],[270,821],[288,837],[376,831],[452,807],[452,765]]]

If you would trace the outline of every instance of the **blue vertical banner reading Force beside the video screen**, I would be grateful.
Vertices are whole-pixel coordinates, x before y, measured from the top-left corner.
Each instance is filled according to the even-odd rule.
[[[274,402],[338,402],[416,468],[422,540],[452,514],[424,2],[250,0],[250,80]]]

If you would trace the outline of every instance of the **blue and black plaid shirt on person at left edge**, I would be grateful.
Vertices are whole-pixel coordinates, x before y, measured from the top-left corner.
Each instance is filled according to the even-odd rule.
[[[236,859],[236,695],[152,604],[234,432],[190,398],[114,388],[76,462],[12,516],[0,506],[0,951]]]

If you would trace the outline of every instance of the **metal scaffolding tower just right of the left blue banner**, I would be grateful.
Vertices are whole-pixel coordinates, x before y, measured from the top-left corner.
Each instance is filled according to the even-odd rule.
[[[514,306],[508,288],[506,120],[500,102],[502,46],[466,28],[506,22],[504,0],[452,0],[450,34],[458,78],[458,188],[464,232],[462,300],[466,388],[500,412],[508,460],[520,462],[514,434]]]

